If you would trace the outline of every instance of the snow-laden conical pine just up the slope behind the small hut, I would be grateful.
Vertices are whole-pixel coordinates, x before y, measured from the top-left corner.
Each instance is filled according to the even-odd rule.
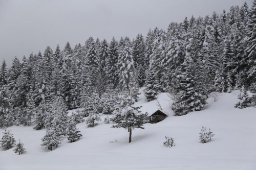
[[[144,95],[146,96],[146,100],[150,102],[157,99],[157,94],[160,93],[160,85],[154,70],[147,70],[145,85]]]

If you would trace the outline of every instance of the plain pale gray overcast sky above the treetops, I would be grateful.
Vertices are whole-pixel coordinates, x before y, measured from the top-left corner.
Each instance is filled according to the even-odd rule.
[[[170,21],[245,1],[251,6],[253,0],[0,0],[0,63],[43,53],[47,45],[84,44],[89,36],[145,36],[149,28],[166,29]]]

